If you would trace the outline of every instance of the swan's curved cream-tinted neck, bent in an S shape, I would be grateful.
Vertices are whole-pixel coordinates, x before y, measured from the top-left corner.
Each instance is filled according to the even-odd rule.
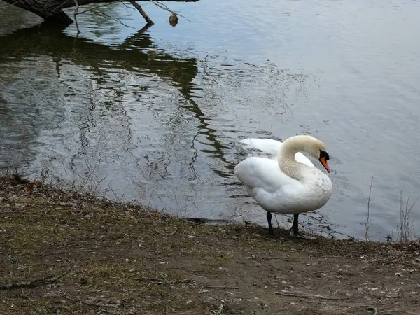
[[[293,138],[284,141],[283,146],[280,148],[278,158],[279,167],[284,174],[293,179],[297,179],[297,181],[302,181],[302,174],[299,172],[301,165],[295,160],[295,154],[304,151],[304,146],[299,141],[296,141],[297,139]]]

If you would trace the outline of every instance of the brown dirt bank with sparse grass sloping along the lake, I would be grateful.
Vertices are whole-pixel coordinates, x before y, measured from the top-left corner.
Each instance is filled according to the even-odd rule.
[[[0,314],[420,314],[420,245],[206,225],[0,179]]]

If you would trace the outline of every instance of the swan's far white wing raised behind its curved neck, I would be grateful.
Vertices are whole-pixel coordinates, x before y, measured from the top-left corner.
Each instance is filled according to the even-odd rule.
[[[239,142],[244,144],[244,148],[256,148],[263,153],[267,153],[269,155],[268,158],[271,160],[277,160],[280,148],[283,145],[282,142],[276,141],[274,139],[247,138]],[[297,162],[303,163],[304,165],[315,167],[311,160],[309,160],[300,152],[295,154],[295,160],[297,160]]]

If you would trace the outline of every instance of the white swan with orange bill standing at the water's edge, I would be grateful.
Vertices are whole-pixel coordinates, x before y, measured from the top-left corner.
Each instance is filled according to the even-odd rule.
[[[269,233],[274,233],[271,214],[274,212],[294,214],[290,230],[295,236],[299,235],[299,214],[323,207],[332,194],[330,178],[300,152],[309,153],[319,160],[329,173],[327,161],[330,156],[325,144],[306,135],[290,137],[283,143],[254,138],[240,142],[247,148],[256,148],[269,155],[268,158],[246,158],[233,171],[248,195],[267,211]]]

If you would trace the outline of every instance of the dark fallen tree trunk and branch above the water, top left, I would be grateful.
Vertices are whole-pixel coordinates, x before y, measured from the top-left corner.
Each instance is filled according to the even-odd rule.
[[[64,25],[71,25],[74,21],[66,15],[62,9],[94,3],[115,3],[115,2],[132,2],[132,0],[3,0],[13,6],[18,6],[43,18],[48,22],[55,22]],[[150,0],[137,0],[143,2],[150,2]],[[200,0],[165,0],[170,2],[197,2]],[[140,7],[140,6],[139,6]],[[137,8],[137,6],[136,6]],[[137,8],[139,10],[139,8]],[[146,14],[146,13],[145,13]],[[143,13],[141,13],[143,15]],[[146,15],[147,16],[147,15]],[[146,22],[148,21],[147,18]]]

